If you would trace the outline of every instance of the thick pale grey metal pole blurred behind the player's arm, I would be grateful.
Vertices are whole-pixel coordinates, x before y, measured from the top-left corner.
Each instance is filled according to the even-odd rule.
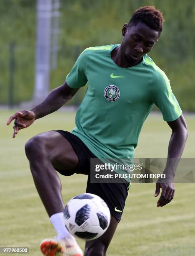
[[[50,84],[50,29],[52,0],[37,0],[37,40],[35,89],[33,102],[38,103],[49,92]]]

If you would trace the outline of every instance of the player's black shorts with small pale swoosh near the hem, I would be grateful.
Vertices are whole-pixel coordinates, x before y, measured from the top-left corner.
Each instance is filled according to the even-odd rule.
[[[88,175],[86,193],[92,193],[101,197],[107,203],[110,209],[110,214],[117,218],[117,220],[121,220],[122,211],[125,207],[125,200],[128,196],[129,184],[90,183],[90,159],[97,157],[92,154],[79,137],[67,131],[57,130],[57,132],[62,134],[62,136],[70,142],[78,156],[79,165],[74,173]],[[56,170],[65,176],[74,174],[73,172],[62,171],[59,169]]]

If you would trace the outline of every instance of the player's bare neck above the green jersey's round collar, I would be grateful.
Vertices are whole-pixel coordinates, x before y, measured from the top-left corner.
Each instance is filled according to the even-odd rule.
[[[118,67],[122,67],[122,68],[128,68],[128,67],[133,67],[137,64],[139,64],[140,62],[142,62],[143,57],[141,59],[139,59],[138,61],[128,61],[125,58],[124,53],[122,52],[122,47],[117,46],[115,49],[112,50],[111,52],[111,59],[115,62],[115,64]]]

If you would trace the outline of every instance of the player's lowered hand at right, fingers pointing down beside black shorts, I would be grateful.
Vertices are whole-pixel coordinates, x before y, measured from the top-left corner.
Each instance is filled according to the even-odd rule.
[[[175,185],[174,183],[156,183],[155,197],[158,197],[160,193],[160,188],[162,189],[160,198],[157,202],[157,207],[163,207],[168,204],[174,197]]]

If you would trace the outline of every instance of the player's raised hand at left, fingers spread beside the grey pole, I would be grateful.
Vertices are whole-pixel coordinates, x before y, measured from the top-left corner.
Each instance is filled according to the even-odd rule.
[[[13,138],[15,138],[19,130],[27,128],[35,121],[35,113],[28,110],[18,111],[14,115],[10,116],[10,118],[7,120],[7,125],[10,125],[14,119]]]

